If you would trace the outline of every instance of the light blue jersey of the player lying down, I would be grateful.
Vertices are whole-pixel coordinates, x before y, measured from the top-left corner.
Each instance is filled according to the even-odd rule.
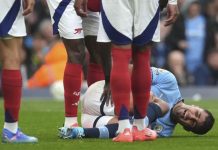
[[[166,101],[171,110],[176,103],[182,100],[175,76],[160,68],[152,67],[151,71],[151,91],[155,96]],[[170,110],[164,117],[158,118],[151,124],[151,128],[157,131],[159,137],[168,137],[173,133],[176,124],[170,119]]]

